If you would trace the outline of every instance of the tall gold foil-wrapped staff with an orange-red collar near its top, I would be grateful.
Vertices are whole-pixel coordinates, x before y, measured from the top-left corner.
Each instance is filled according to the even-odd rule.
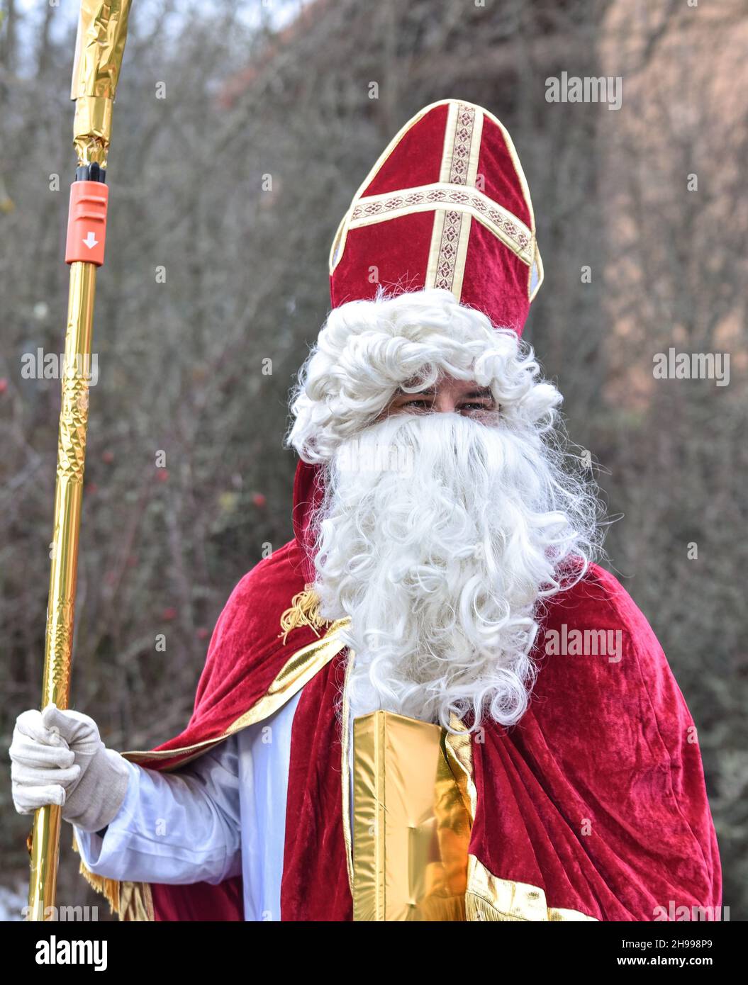
[[[78,156],[70,189],[65,262],[70,294],[57,444],[54,533],[46,611],[41,707],[67,708],[78,571],[89,375],[94,329],[97,267],[103,263],[106,229],[106,155],[111,109],[122,64],[130,0],[82,0],[70,98],[76,100],[73,128]],[[39,808],[30,836],[31,882],[28,919],[53,919],[60,842],[60,808]]]

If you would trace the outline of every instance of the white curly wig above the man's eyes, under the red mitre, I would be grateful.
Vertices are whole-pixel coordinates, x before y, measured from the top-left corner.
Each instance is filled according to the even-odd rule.
[[[349,301],[330,312],[299,375],[289,442],[309,463],[330,461],[399,389],[441,375],[490,387],[508,427],[553,427],[559,391],[540,381],[532,349],[448,291]],[[410,385],[407,385],[410,383]]]

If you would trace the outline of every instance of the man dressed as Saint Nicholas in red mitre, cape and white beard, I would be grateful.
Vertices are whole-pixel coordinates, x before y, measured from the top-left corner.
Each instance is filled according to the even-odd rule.
[[[373,721],[436,735],[458,792],[459,821],[440,795],[429,829],[446,877],[385,919],[719,907],[693,719],[595,562],[595,489],[521,339],[542,279],[507,130],[469,102],[427,106],[335,235],[332,307],[291,402],[294,538],[234,589],[185,729],[120,754],[80,712],[18,717],[17,810],[61,805],[122,919],[382,918],[358,902],[356,730]],[[432,766],[386,735],[382,783],[410,769],[428,787]]]

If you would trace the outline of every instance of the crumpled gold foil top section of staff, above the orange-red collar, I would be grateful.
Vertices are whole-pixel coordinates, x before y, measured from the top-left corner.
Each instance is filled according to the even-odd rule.
[[[131,0],[82,0],[70,99],[78,164],[106,166],[111,107],[122,66]]]

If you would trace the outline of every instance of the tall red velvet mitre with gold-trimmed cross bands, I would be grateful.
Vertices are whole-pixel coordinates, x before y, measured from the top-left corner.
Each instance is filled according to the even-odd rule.
[[[332,306],[445,288],[521,335],[543,281],[530,191],[511,138],[481,106],[442,99],[392,139],[330,250]]]

